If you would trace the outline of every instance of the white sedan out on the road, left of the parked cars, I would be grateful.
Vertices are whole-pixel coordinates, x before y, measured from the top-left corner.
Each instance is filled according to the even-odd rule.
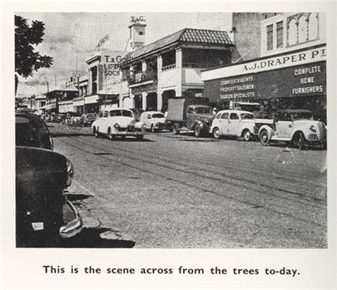
[[[143,139],[145,133],[144,124],[135,120],[134,113],[131,110],[120,108],[100,111],[91,128],[96,138],[100,135],[107,135],[110,140],[117,136]]]

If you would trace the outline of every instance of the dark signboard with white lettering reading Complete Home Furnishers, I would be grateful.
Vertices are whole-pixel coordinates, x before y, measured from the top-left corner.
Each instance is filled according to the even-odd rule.
[[[213,79],[204,95],[212,102],[326,95],[326,62]]]

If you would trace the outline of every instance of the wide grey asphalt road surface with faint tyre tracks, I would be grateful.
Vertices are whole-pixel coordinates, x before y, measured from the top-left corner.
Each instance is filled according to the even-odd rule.
[[[48,124],[85,230],[65,247],[327,247],[326,151]]]

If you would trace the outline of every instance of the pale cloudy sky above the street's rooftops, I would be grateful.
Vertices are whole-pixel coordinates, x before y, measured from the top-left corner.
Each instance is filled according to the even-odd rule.
[[[124,51],[129,39],[131,16],[146,19],[146,43],[182,28],[231,30],[231,13],[23,13],[16,15],[45,23],[43,43],[36,47],[41,55],[53,57],[53,65],[39,69],[33,77],[19,77],[17,96],[43,94],[65,84],[71,72],[85,74],[85,59],[97,43],[109,35],[103,48]]]

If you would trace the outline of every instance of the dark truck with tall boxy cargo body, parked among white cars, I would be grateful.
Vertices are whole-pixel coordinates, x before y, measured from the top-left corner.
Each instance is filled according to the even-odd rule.
[[[173,133],[193,130],[196,137],[208,133],[215,116],[208,104],[208,99],[200,97],[169,99],[166,121],[172,124]]]

